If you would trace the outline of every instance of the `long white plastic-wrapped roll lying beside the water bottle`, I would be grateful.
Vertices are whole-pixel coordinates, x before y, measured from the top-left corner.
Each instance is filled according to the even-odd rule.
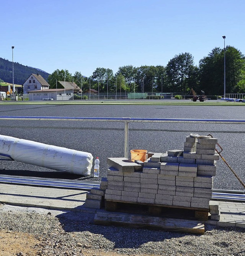
[[[62,172],[90,175],[90,153],[0,135],[0,158],[38,165]]]

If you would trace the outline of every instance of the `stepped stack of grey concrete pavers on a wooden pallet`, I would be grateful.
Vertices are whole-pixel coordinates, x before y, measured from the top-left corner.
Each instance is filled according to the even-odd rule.
[[[184,150],[153,153],[144,163],[108,158],[105,199],[209,209],[216,144],[215,138],[188,136]]]

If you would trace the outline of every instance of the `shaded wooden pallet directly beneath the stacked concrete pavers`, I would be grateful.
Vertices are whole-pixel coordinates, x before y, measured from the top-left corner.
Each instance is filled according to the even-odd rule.
[[[209,209],[105,200],[105,210],[186,220],[208,220]]]

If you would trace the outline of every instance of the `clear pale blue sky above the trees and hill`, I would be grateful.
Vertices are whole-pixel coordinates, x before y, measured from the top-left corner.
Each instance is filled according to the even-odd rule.
[[[245,54],[244,0],[0,0],[0,57],[48,73],[163,65],[215,47]]]

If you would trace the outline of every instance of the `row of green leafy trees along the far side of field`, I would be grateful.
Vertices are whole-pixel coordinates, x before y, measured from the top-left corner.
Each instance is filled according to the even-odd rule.
[[[226,93],[245,92],[245,57],[233,46],[225,48]],[[194,64],[190,53],[174,56],[166,66],[121,66],[116,74],[109,68],[96,68],[90,77],[76,71],[57,69],[48,82],[55,88],[59,81],[74,81],[83,91],[91,88],[99,92],[172,92],[192,95],[205,91],[206,95],[224,94],[224,49],[214,48],[208,56]]]

